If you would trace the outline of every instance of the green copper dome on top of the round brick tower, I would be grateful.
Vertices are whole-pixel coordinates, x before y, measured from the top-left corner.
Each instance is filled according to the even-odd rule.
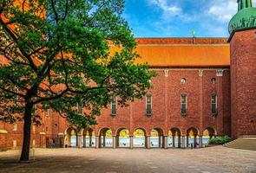
[[[256,27],[256,8],[252,4],[252,0],[238,0],[238,13],[228,24],[230,34],[236,29]]]

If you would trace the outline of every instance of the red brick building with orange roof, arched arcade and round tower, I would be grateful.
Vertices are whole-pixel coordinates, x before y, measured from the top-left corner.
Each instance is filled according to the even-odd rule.
[[[244,2],[239,1],[239,5]],[[124,108],[114,101],[102,110],[98,125],[82,131],[69,127],[65,119],[51,110],[37,109],[43,125],[33,126],[31,144],[184,148],[190,144],[202,147],[204,136],[255,135],[256,22],[250,27],[231,26],[229,40],[137,39],[137,51],[141,54],[138,62],[147,61],[158,74],[151,80],[154,88],[144,99]],[[1,122],[0,150],[20,148],[22,131],[22,123]]]

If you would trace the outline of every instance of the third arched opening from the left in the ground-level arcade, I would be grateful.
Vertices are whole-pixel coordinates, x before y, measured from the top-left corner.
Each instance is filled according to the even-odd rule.
[[[99,148],[113,147],[112,131],[109,128],[103,128],[99,134]]]

